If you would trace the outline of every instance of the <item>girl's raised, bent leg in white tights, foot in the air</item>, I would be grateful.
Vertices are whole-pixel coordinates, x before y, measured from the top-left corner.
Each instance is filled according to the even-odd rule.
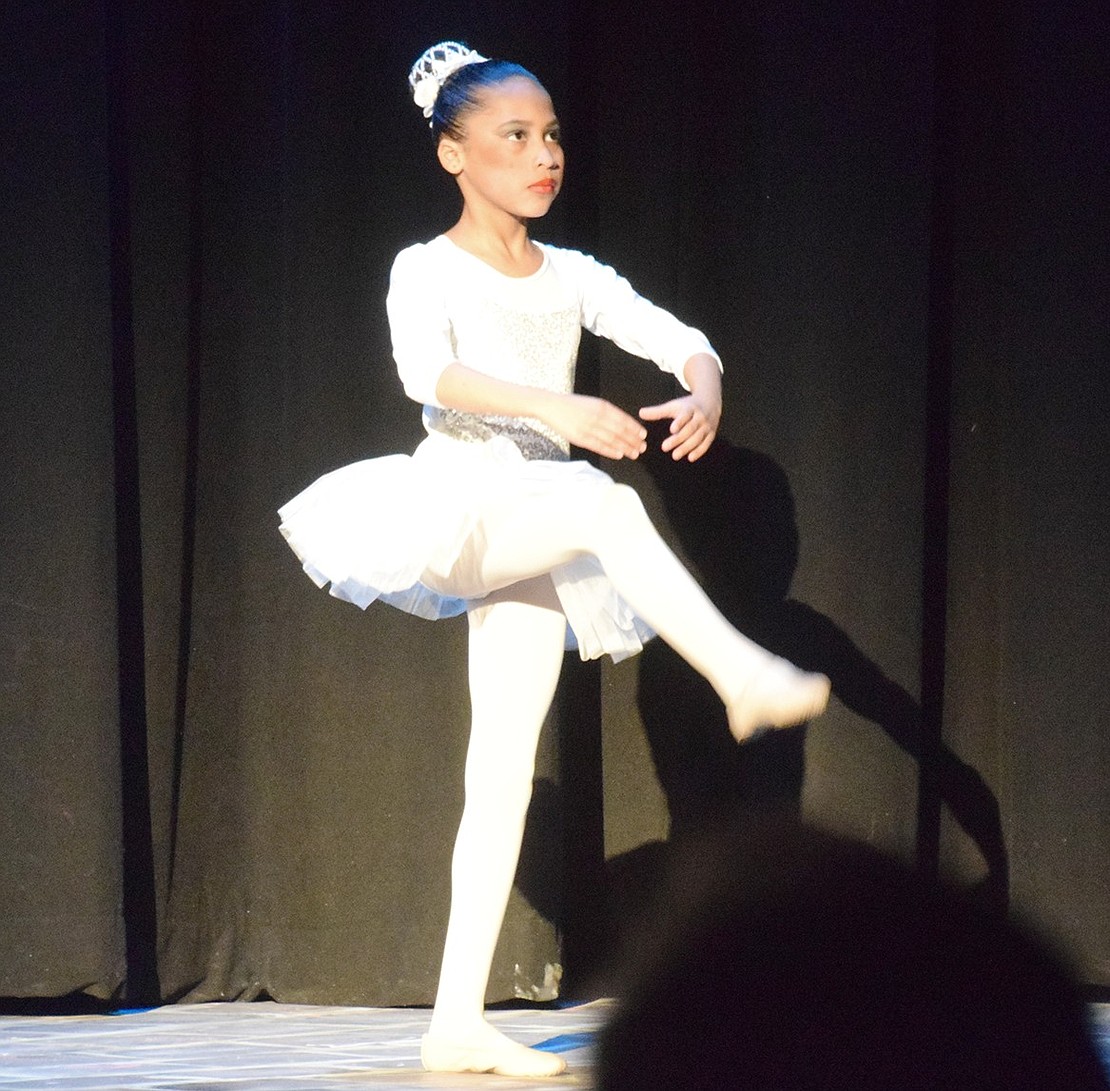
[[[483,516],[481,579],[504,586],[593,554],[619,595],[716,689],[733,735],[824,711],[829,681],[735,629],[659,537],[635,491],[608,478],[571,483]]]

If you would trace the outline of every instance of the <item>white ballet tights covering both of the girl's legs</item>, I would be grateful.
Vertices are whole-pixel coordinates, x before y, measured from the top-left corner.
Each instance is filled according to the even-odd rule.
[[[627,486],[579,481],[488,513],[476,533],[484,544],[475,587],[465,586],[461,572],[428,574],[464,597],[500,588],[468,615],[466,799],[430,1037],[496,1050],[501,1036],[482,1013],[485,989],[516,871],[536,743],[563,658],[566,622],[548,574],[595,555],[620,596],[726,705],[743,699],[750,679],[776,660],[720,615]],[[804,718],[793,709],[790,717]]]

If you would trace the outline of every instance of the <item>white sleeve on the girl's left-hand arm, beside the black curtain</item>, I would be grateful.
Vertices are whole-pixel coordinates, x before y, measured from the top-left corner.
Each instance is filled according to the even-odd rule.
[[[442,408],[435,387],[456,351],[443,279],[427,245],[397,254],[385,297],[393,358],[405,393],[415,402]]]

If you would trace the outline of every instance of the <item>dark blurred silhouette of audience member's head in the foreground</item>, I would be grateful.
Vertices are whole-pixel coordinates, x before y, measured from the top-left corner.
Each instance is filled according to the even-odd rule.
[[[602,1036],[599,1091],[1107,1091],[1031,931],[767,818],[685,840]]]

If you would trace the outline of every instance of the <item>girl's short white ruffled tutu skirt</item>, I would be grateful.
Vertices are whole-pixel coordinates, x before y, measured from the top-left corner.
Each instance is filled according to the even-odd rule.
[[[387,455],[324,474],[279,512],[281,533],[317,587],[365,609],[375,599],[437,619],[464,613],[497,589],[475,589],[482,512],[542,504],[565,489],[610,478],[586,462],[526,461],[504,437],[466,443],[430,435],[412,455]],[[465,594],[437,574],[467,574]],[[551,573],[567,618],[567,647],[615,661],[653,635],[584,554]],[[428,586],[425,579],[435,584]],[[453,594],[455,592],[455,594]]]

